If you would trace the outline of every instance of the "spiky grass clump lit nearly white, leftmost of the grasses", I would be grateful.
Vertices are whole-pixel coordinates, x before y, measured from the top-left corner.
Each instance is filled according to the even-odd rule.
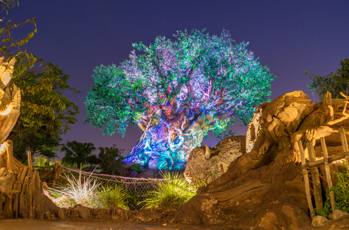
[[[100,183],[95,179],[81,176],[78,178],[73,175],[69,176],[64,173],[64,178],[67,181],[66,186],[50,189],[51,194],[55,197],[55,202],[59,206],[72,207],[75,204],[81,204],[89,208],[99,208],[101,206],[98,197],[98,189]]]

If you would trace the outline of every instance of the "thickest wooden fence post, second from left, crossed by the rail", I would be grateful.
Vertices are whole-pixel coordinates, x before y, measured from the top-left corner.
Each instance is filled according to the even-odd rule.
[[[309,161],[315,161],[316,159],[315,159],[313,144],[306,143],[306,147],[309,153]],[[314,167],[314,169],[311,170],[311,178],[313,179],[313,186],[314,186],[315,207],[316,207],[316,210],[320,210],[324,208],[324,204],[322,203],[319,170],[316,166]]]

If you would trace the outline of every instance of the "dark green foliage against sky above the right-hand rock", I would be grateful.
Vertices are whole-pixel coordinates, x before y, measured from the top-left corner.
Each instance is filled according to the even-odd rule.
[[[313,91],[313,95],[317,93],[320,100],[327,91],[332,94],[332,98],[342,98],[340,92],[349,95],[349,58],[340,61],[340,65],[340,69],[324,77],[310,75],[307,71],[304,72],[312,80],[307,86]]]

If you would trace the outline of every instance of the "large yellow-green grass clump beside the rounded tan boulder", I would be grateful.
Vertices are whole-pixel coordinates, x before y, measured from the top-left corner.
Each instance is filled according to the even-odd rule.
[[[186,179],[178,172],[161,172],[164,179],[168,181],[159,181],[155,184],[155,190],[146,195],[146,199],[139,202],[143,208],[174,208],[178,209],[195,195],[191,191]]]

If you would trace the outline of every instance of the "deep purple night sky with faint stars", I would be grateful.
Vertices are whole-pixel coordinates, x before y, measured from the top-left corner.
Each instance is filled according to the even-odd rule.
[[[126,155],[141,136],[138,126],[130,125],[124,138],[119,133],[103,136],[103,131],[83,124],[87,111],[83,97],[93,81],[96,66],[120,63],[128,58],[133,42],[154,43],[156,36],[173,39],[177,30],[207,28],[210,35],[229,30],[237,43],[249,41],[248,49],[267,65],[277,78],[272,82],[271,100],[302,90],[311,95],[304,75],[324,76],[349,58],[349,1],[25,1],[10,9],[5,20],[23,22],[36,17],[38,33],[25,45],[38,58],[61,67],[70,75],[69,85],[80,94],[65,93],[79,106],[78,123],[63,136],[63,142],[91,142],[98,147],[125,149]],[[34,28],[13,31],[23,36]],[[246,135],[247,127],[230,128]],[[213,135],[204,139],[214,147]],[[96,151],[95,153],[98,153]],[[62,157],[62,154],[59,154]]]

